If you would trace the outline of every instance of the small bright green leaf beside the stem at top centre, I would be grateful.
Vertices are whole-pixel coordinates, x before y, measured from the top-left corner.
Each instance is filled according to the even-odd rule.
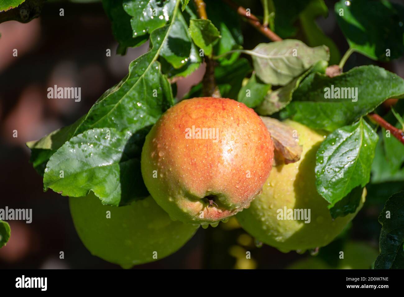
[[[195,44],[209,57],[212,55],[213,45],[220,38],[219,30],[208,19],[191,19],[189,34]]]

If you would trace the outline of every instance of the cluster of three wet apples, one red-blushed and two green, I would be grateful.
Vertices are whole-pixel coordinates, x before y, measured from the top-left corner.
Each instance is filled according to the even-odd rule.
[[[282,252],[327,245],[356,213],[333,220],[317,193],[315,156],[324,134],[292,121],[282,125],[297,132],[293,141],[302,147],[296,160],[283,163],[271,121],[264,124],[243,103],[179,102],[143,146],[141,172],[151,197],[118,209],[93,195],[70,198],[80,238],[94,255],[122,267],[170,255],[200,225],[215,227],[233,215],[250,235]],[[310,219],[280,219],[284,208],[309,210]],[[108,210],[111,218],[100,221]]]

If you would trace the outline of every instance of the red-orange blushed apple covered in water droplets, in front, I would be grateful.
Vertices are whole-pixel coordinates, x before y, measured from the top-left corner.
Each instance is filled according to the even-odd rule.
[[[208,225],[249,206],[272,167],[274,145],[259,116],[225,98],[168,109],[141,155],[149,193],[173,219]]]

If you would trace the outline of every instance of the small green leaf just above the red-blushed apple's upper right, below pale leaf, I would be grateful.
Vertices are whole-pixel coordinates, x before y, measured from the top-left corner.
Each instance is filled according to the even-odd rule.
[[[238,92],[237,100],[250,108],[254,108],[264,100],[270,89],[271,85],[263,83],[255,76],[255,73],[252,73],[246,85]]]

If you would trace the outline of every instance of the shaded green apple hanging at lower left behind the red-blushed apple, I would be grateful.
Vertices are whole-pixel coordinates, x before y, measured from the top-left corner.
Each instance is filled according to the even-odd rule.
[[[84,246],[92,255],[123,268],[162,259],[196,232],[195,226],[172,221],[150,196],[116,207],[102,205],[90,192],[86,197],[70,197],[69,204]]]

